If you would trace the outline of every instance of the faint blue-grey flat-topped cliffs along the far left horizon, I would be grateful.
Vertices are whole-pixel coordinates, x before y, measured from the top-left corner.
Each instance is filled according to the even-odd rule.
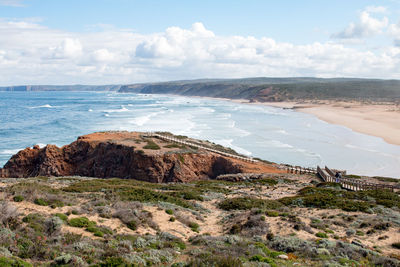
[[[121,85],[19,85],[0,87],[0,91],[118,91]]]

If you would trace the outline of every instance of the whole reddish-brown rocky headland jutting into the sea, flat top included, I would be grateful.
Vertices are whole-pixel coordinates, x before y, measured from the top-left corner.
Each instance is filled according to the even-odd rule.
[[[173,136],[163,133],[164,136]],[[175,136],[225,153],[236,152],[207,141]],[[273,164],[246,162],[198,146],[149,137],[140,132],[98,132],[61,148],[26,148],[0,169],[2,178],[88,176],[149,182],[188,182],[231,173],[279,173]]]

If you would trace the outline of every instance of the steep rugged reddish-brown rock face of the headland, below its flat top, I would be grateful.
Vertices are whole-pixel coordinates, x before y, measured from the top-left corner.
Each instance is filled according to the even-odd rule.
[[[243,166],[208,152],[146,153],[115,140],[79,137],[59,148],[26,148],[0,169],[0,176],[89,176],[126,178],[149,182],[187,182],[242,172]]]

